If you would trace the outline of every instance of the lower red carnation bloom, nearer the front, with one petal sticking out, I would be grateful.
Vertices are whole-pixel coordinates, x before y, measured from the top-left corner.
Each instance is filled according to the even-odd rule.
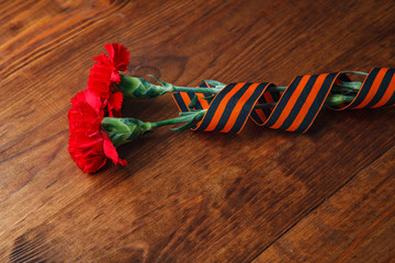
[[[101,130],[103,116],[101,99],[89,90],[81,91],[71,99],[71,108],[68,112],[70,126],[68,150],[72,160],[87,173],[102,168],[106,158],[110,158],[114,164],[126,165],[126,161],[119,158],[110,138]]]

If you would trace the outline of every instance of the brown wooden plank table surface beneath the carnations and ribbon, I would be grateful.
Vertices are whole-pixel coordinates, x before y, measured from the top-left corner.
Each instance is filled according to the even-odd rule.
[[[119,42],[178,85],[395,66],[393,1],[1,1],[0,262],[391,262],[395,110],[323,111],[307,134],[160,128],[82,173],[70,98]],[[174,117],[170,95],[124,115]],[[394,262],[394,261],[393,261]]]

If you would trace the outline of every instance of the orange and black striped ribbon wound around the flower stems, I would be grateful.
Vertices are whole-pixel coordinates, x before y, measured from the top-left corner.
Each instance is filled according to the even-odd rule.
[[[227,84],[213,100],[210,94],[193,92],[173,93],[181,112],[188,112],[191,100],[198,95],[194,110],[206,108],[194,130],[239,133],[250,117],[257,125],[287,132],[305,133],[321,110],[335,83],[349,82],[346,73],[297,76],[284,92],[269,92],[272,83]],[[208,87],[207,83],[201,87]],[[261,103],[278,102],[273,108],[253,108]],[[346,108],[381,107],[395,104],[395,68],[374,68],[365,77],[356,99]]]

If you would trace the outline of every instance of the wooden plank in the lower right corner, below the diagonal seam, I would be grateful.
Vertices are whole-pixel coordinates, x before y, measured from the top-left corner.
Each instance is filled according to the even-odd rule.
[[[252,262],[393,262],[394,174],[392,148]]]

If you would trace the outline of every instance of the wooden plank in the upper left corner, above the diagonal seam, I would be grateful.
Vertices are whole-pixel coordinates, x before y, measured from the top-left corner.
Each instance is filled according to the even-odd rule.
[[[126,1],[127,3],[127,1]],[[2,78],[61,46],[111,13],[124,8],[114,1],[13,1],[4,4],[0,28]]]

